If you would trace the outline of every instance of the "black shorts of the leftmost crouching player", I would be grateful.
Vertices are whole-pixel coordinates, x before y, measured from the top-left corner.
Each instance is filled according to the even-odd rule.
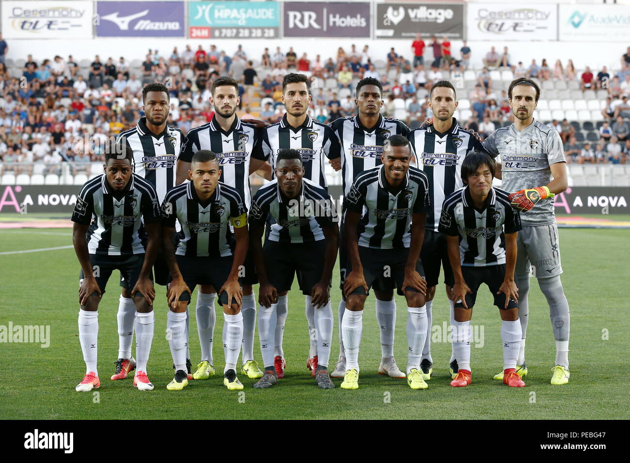
[[[134,289],[135,283],[138,281],[140,271],[142,271],[142,264],[144,264],[144,254],[131,254],[127,256],[104,256],[101,254],[89,254],[89,262],[92,265],[96,283],[98,283],[98,289],[101,290],[101,294],[105,294],[105,286],[108,280],[112,276],[114,270],[120,271],[122,280],[120,286],[127,288],[128,290]],[[83,281],[83,269],[79,273],[79,284]],[[151,273],[149,278],[153,280]],[[93,292],[91,295],[95,295]],[[140,292],[136,292],[132,297],[142,295]]]

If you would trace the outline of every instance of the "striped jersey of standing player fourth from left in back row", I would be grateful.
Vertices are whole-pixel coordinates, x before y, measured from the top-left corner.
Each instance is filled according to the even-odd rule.
[[[348,194],[358,174],[382,164],[383,146],[390,135],[406,137],[409,134],[409,127],[404,122],[382,115],[372,129],[366,129],[358,115],[339,118],[331,123],[331,127],[341,142],[344,195]]]

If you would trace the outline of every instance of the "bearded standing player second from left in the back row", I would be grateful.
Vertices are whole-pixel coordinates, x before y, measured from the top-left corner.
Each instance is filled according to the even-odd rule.
[[[212,84],[210,104],[214,106],[215,115],[212,120],[186,135],[181,155],[177,161],[177,183],[188,177],[193,154],[200,150],[215,153],[219,168],[220,181],[236,188],[244,198],[245,206],[249,208],[251,190],[249,174],[257,172],[263,178],[271,180],[271,166],[265,161],[252,157],[252,151],[258,143],[260,130],[254,125],[241,121],[236,115],[236,108],[240,103],[238,96],[238,82],[231,77],[217,77]],[[244,264],[244,275],[239,278],[243,287],[243,364],[241,372],[249,378],[262,377],[258,363],[254,360],[254,333],[256,329],[256,295],[253,285],[258,283],[253,256],[248,253]],[[214,301],[217,297],[213,287],[200,285],[197,294],[197,333],[201,345],[202,358],[197,365],[194,379],[208,379],[214,375],[214,360],[212,355],[212,340],[216,321]]]

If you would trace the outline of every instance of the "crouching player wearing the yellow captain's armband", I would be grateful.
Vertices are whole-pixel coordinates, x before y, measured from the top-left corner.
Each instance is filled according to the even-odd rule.
[[[243,197],[219,181],[221,171],[214,152],[197,151],[190,164],[192,181],[169,191],[162,205],[164,256],[171,271],[168,287],[168,343],[175,363],[175,378],[166,389],[180,391],[188,386],[186,375],[186,306],[196,285],[219,290],[223,306],[223,346],[226,358],[223,384],[243,389],[236,377],[236,362],[243,339],[243,291],[238,282],[248,247],[247,208]],[[175,250],[175,223],[183,237]],[[234,226],[236,248],[230,249],[229,223]]]

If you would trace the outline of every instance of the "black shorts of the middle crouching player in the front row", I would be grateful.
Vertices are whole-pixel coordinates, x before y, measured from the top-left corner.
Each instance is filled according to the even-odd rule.
[[[297,274],[297,284],[302,294],[309,296],[324,273],[325,254],[325,239],[314,243],[278,243],[267,240],[263,246],[267,278],[278,292],[283,292],[291,289],[291,283]]]

